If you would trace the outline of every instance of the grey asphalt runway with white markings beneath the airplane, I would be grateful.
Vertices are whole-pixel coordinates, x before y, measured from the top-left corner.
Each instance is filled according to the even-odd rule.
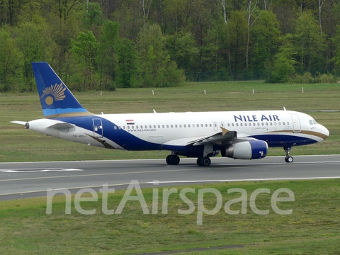
[[[295,156],[257,160],[212,158],[209,167],[197,166],[196,159],[181,159],[168,166],[165,159],[0,163],[0,200],[46,196],[47,189],[126,188],[136,180],[141,187],[182,185],[219,181],[340,178],[340,155]]]

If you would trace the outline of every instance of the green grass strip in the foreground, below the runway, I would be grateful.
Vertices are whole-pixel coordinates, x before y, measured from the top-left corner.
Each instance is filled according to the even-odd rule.
[[[179,192],[193,201],[195,212],[188,210]],[[208,249],[199,254],[339,254],[340,180],[238,182],[209,185],[177,186],[169,197],[168,214],[162,214],[162,191],[159,188],[157,214],[144,215],[139,201],[128,201],[122,214],[104,215],[101,196],[98,202],[81,202],[85,210],[96,209],[94,215],[81,215],[74,209],[65,215],[64,196],[53,199],[52,214],[46,215],[46,198],[12,200],[0,203],[0,254],[138,254],[156,251],[187,251],[234,244],[234,249]],[[203,225],[196,225],[197,196],[200,188],[216,188],[223,198],[222,209],[215,215],[203,214]],[[230,188],[244,188],[248,202],[246,214],[229,215],[223,210],[227,201],[239,193]],[[257,188],[269,188],[271,194],[256,198],[260,210],[256,215],[249,207],[249,197]],[[271,195],[278,188],[289,188],[294,202],[280,202],[281,210],[293,209],[291,215],[278,215],[271,209]],[[125,191],[108,196],[108,208],[116,209]],[[152,188],[142,189],[152,210]],[[100,194],[100,193],[99,193]],[[284,196],[282,194],[281,196]],[[204,206],[215,208],[212,193],[204,196]],[[241,203],[231,210],[240,210]],[[181,254],[181,253],[180,253]],[[184,254],[184,253],[183,253]],[[198,254],[198,251],[185,254]]]

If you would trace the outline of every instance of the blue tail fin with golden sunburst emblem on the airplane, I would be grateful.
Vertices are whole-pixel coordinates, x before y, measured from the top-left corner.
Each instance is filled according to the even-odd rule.
[[[90,115],[46,62],[32,62],[45,118]]]

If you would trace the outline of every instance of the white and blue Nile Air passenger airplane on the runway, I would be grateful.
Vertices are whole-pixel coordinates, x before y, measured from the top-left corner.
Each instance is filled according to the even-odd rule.
[[[179,156],[263,159],[268,147],[283,147],[285,162],[293,162],[293,146],[311,145],[329,136],[314,118],[296,111],[221,111],[187,113],[90,113],[47,62],[32,62],[44,118],[12,121],[52,137],[108,149],[167,150],[166,163]]]

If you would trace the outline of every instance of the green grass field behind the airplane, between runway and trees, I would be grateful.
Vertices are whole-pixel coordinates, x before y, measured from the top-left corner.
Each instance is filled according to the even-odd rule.
[[[304,93],[302,94],[302,86]],[[254,89],[254,94],[252,90]],[[183,111],[242,111],[283,109],[312,115],[329,131],[328,139],[317,145],[293,147],[297,154],[338,154],[340,152],[340,113],[313,112],[340,109],[339,84],[265,84],[263,81],[188,83],[177,88],[118,89],[74,93],[92,113],[152,113]],[[206,94],[204,94],[204,90]],[[1,94],[0,162],[58,161],[82,159],[165,158],[168,152],[124,152],[79,145],[25,130],[11,120],[42,118],[38,92]],[[269,155],[284,155],[283,149],[270,149]]]

